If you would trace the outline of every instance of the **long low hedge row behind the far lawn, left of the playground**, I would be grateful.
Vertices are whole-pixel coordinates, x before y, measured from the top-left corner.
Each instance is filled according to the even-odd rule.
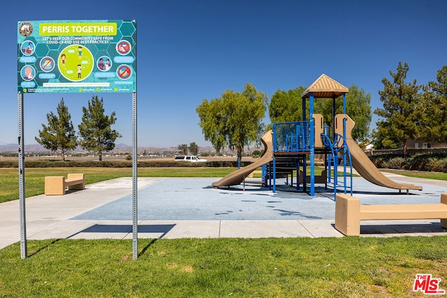
[[[241,167],[251,164],[242,161]],[[18,161],[0,161],[0,167],[18,167]],[[132,167],[131,161],[25,161],[25,167]],[[237,167],[237,161],[138,161],[138,167]]]

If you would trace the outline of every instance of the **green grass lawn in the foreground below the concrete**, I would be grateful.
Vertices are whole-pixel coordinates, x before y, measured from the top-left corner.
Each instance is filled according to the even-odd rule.
[[[423,297],[446,237],[29,241],[0,251],[0,297]],[[34,253],[34,254],[33,254]]]

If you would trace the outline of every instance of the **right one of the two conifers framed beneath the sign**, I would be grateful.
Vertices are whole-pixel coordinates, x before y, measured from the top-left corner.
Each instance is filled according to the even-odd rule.
[[[82,122],[79,124],[80,146],[98,154],[99,161],[103,160],[103,151],[115,148],[115,140],[121,135],[112,129],[117,118],[115,112],[110,116],[104,114],[103,98],[92,96],[88,107],[82,107]]]

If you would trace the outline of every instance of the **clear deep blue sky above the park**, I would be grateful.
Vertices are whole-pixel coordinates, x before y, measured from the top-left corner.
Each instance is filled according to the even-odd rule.
[[[2,4],[0,144],[17,143],[17,22],[137,20],[138,146],[209,145],[196,107],[251,82],[270,98],[308,87],[321,74],[356,84],[381,107],[378,91],[399,61],[407,80],[436,80],[447,64],[446,1],[39,1]],[[64,98],[75,128],[91,96],[132,144],[131,94],[25,94],[25,144],[36,144],[46,114]],[[373,117],[373,122],[377,120]],[[270,123],[266,117],[265,123]],[[373,123],[374,124],[374,123]]]

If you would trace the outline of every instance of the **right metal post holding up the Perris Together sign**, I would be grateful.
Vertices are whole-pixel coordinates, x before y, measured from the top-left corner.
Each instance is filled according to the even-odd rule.
[[[133,260],[138,259],[138,165],[137,165],[137,93],[132,93],[133,132],[132,132],[132,194],[133,194]]]

